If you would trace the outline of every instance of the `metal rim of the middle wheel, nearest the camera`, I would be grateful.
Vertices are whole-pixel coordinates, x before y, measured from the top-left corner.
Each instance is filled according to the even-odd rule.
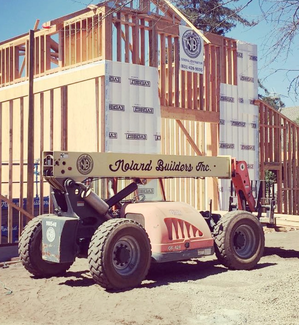
[[[132,236],[121,237],[112,250],[112,264],[120,275],[132,274],[140,261],[140,247]]]

